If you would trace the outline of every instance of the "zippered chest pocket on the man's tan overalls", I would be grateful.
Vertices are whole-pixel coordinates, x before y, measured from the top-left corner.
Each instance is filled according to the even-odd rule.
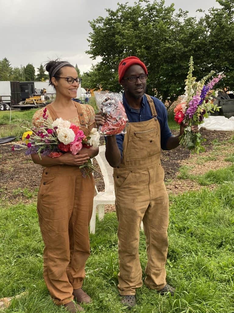
[[[126,160],[144,160],[161,152],[160,136],[156,128],[131,131],[126,149]]]

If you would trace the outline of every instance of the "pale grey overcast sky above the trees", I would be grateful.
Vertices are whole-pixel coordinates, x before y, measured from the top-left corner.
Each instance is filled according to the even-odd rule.
[[[133,5],[135,0],[129,0]],[[88,20],[106,16],[105,8],[116,9],[126,0],[0,0],[0,59],[7,57],[12,66],[42,62],[59,57],[78,65],[81,73],[90,69],[91,60],[85,50],[91,28]],[[153,0],[151,0],[153,2]],[[165,5],[188,10],[219,7],[215,0],[165,0]]]

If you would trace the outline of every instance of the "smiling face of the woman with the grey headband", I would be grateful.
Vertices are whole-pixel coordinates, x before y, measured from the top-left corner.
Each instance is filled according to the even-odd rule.
[[[79,84],[76,80],[74,80],[72,84],[69,84],[66,80],[66,78],[78,78],[76,69],[71,66],[63,66],[59,77],[65,78],[55,80],[54,85],[56,87],[56,92],[62,94],[66,98],[76,98]]]

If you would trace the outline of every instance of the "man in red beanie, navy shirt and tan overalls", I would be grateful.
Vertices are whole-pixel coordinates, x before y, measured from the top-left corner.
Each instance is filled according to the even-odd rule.
[[[145,284],[161,295],[174,294],[166,283],[165,264],[168,249],[168,194],[160,162],[161,148],[179,145],[180,134],[173,136],[167,123],[167,111],[155,97],[145,95],[148,71],[136,57],[119,64],[119,83],[124,88],[123,104],[129,119],[124,135],[106,137],[106,159],[114,167],[115,206],[119,221],[119,293],[124,305],[136,304],[136,288],[142,286],[139,261],[139,229],[144,225],[148,263]],[[95,116],[97,125],[105,117]],[[197,131],[197,126],[193,127]]]

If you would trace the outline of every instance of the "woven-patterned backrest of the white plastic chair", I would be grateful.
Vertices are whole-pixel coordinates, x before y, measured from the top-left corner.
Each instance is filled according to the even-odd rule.
[[[113,167],[111,167],[110,164],[106,161],[105,150],[106,150],[105,145],[99,146],[99,154],[95,156],[95,159],[97,160],[103,175],[105,191],[113,191],[114,190]]]

